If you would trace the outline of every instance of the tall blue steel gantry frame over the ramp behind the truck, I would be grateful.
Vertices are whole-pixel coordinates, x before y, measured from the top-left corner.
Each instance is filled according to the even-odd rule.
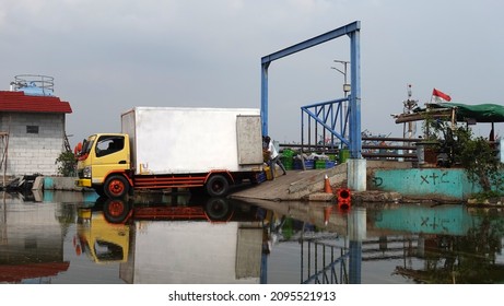
[[[270,63],[280,58],[293,55],[295,52],[308,49],[310,47],[320,45],[323,43],[332,40],[335,38],[348,35],[350,37],[350,73],[351,73],[351,87],[349,101],[349,139],[344,139],[344,133],[335,131],[335,120],[330,118],[331,125],[323,123],[333,136],[339,138],[342,143],[349,145],[350,157],[361,158],[362,151],[362,137],[361,137],[361,45],[360,45],[360,30],[361,22],[355,21],[348,25],[332,30],[325,34],[309,38],[305,42],[298,43],[269,56],[261,58],[261,120],[262,120],[262,134],[268,134],[268,68]],[[347,101],[344,98],[343,101]],[[342,102],[338,99],[335,102]],[[347,114],[344,115],[347,117]],[[316,118],[316,117],[314,117]],[[326,118],[329,119],[329,118]],[[332,128],[331,128],[332,127]]]

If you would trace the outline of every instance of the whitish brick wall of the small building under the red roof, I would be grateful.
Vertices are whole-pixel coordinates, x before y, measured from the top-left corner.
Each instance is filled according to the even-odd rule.
[[[27,133],[26,126],[38,126],[38,133]],[[65,150],[65,114],[0,113],[0,131],[9,132],[7,175],[57,174],[55,162]]]

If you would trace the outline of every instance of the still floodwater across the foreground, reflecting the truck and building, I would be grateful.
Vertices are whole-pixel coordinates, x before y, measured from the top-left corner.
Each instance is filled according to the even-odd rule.
[[[502,283],[504,213],[466,205],[0,193],[0,283]]]

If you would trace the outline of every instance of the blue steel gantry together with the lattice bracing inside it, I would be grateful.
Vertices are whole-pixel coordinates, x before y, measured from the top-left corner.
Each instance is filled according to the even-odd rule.
[[[350,37],[350,73],[351,73],[351,89],[350,96],[342,99],[336,99],[330,103],[323,103],[319,105],[312,105],[302,108],[303,111],[308,114],[314,118],[318,123],[320,123],[324,129],[327,129],[331,136],[338,138],[341,143],[345,144],[350,149],[350,157],[361,158],[362,151],[362,137],[361,137],[361,64],[360,64],[360,28],[361,23],[359,21],[344,25],[342,27],[336,28],[328,33],[321,34],[319,36],[313,37],[305,42],[298,43],[269,56],[265,56],[261,59],[261,119],[262,119],[262,133],[268,134],[268,68],[273,60],[290,56],[292,54],[302,51],[304,49],[317,46],[319,44],[326,43],[328,40],[348,35]],[[332,109],[332,107],[338,107],[341,109],[342,103],[349,103],[348,113],[342,114],[338,111],[327,111]],[[337,104],[337,106],[332,106]],[[309,110],[309,108],[316,107],[315,111]],[[318,111],[324,109],[324,111]],[[338,117],[340,117],[339,125],[337,123]],[[345,136],[347,120],[349,125],[349,138]],[[340,127],[340,131],[338,131]]]

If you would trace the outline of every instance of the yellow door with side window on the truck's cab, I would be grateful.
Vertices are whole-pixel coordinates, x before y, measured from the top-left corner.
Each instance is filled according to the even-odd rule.
[[[129,168],[129,145],[125,136],[101,136],[94,148],[93,180],[104,181],[112,172]]]

